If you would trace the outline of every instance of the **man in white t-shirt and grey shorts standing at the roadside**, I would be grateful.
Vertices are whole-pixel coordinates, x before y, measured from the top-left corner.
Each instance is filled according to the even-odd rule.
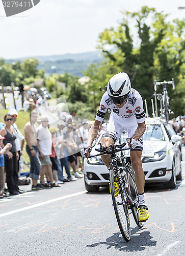
[[[38,151],[39,151],[39,158],[41,162],[41,170],[40,170],[40,180],[41,185],[43,187],[55,187],[60,186],[55,184],[54,179],[52,177],[52,163],[50,160],[49,155],[51,155],[51,148],[52,148],[52,140],[51,140],[51,133],[48,129],[48,118],[47,116],[43,116],[41,118],[41,124],[39,125],[36,138],[38,141]],[[44,174],[48,177],[49,181],[47,180],[50,185],[45,183]]]

